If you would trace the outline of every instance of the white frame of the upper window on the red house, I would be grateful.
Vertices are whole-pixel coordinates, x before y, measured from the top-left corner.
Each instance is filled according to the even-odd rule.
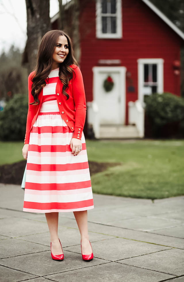
[[[122,38],[122,0],[116,0],[116,33],[102,33],[101,0],[96,0],[96,37],[97,38]]]

